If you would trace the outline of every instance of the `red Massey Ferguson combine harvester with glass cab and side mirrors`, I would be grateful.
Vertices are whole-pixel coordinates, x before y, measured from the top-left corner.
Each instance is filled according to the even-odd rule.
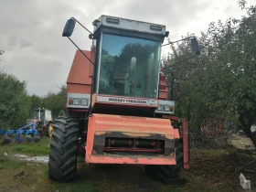
[[[76,23],[71,17],[62,34],[78,50],[67,80],[69,117],[53,124],[49,179],[75,179],[79,154],[87,164],[144,165],[148,176],[160,180],[188,169],[187,120],[180,130],[172,125],[175,102],[166,99],[160,69],[165,26],[101,16],[93,33],[84,27],[96,42],[89,51],[70,39]],[[197,39],[189,38],[199,55]]]

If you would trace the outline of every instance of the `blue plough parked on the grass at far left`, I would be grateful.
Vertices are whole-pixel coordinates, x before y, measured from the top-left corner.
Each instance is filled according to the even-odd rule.
[[[31,123],[27,124],[24,127],[21,127],[17,130],[0,130],[1,134],[4,134],[5,143],[11,143],[13,141],[17,143],[22,143],[24,141],[24,137],[27,138],[27,142],[38,141],[40,139],[40,133],[36,129],[36,124]],[[15,139],[13,140],[10,136],[13,136]]]

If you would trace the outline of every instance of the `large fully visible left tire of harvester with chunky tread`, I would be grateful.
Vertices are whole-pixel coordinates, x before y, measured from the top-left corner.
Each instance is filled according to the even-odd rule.
[[[48,178],[69,182],[77,178],[78,120],[58,117],[53,124],[50,142]]]

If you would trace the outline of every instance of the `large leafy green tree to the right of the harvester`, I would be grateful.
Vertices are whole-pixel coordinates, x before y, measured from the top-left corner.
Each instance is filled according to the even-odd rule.
[[[180,85],[178,109],[187,117],[189,103],[192,126],[206,117],[232,120],[256,146],[256,136],[251,133],[256,117],[256,6],[246,7],[245,1],[239,4],[246,16],[210,23],[208,31],[197,37],[202,56],[169,72],[187,79]],[[172,50],[166,65],[191,52],[187,42]]]

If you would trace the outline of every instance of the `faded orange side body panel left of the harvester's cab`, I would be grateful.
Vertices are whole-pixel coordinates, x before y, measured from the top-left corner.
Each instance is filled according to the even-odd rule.
[[[94,60],[95,48],[91,48],[91,51],[82,50],[82,52],[92,61]],[[77,50],[69,71],[67,91],[91,94],[92,71],[91,62],[82,55],[80,50]]]

